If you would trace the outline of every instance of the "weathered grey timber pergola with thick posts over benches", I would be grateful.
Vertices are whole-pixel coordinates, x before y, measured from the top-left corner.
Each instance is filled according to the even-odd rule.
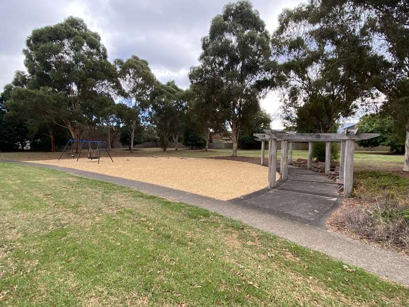
[[[344,177],[344,196],[349,197],[352,192],[354,178],[354,151],[355,142],[376,138],[379,134],[358,133],[358,129],[346,130],[345,133],[322,133],[322,134],[303,134],[303,133],[284,133],[277,130],[264,129],[263,134],[254,134],[256,140],[261,141],[261,164],[264,163],[265,141],[268,141],[268,187],[277,187],[277,142],[281,142],[281,160],[280,160],[280,180],[288,179],[288,164],[292,163],[292,147],[296,142],[308,142],[307,168],[311,169],[312,164],[312,143],[325,142],[325,172],[331,168],[331,142],[341,143],[341,156],[339,174]]]

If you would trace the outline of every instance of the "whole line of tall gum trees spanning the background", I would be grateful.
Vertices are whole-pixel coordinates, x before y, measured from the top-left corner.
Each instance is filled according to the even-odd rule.
[[[122,130],[133,150],[149,127],[164,150],[182,137],[208,148],[225,133],[237,155],[239,140],[269,126],[260,100],[274,89],[285,126],[300,133],[333,132],[362,110],[388,118],[409,171],[408,16],[403,0],[309,0],[285,9],[270,34],[250,2],[229,3],[201,40],[187,90],[158,81],[138,56],[110,63],[98,33],[69,17],[27,38],[27,73],[1,95],[1,146]]]

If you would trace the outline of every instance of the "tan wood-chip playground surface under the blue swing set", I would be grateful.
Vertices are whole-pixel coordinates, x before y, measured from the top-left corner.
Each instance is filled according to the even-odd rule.
[[[123,157],[96,160],[75,159],[31,161],[115,177],[139,180],[219,200],[248,194],[268,184],[268,168],[238,161],[178,158]],[[277,178],[280,175],[277,173]]]

